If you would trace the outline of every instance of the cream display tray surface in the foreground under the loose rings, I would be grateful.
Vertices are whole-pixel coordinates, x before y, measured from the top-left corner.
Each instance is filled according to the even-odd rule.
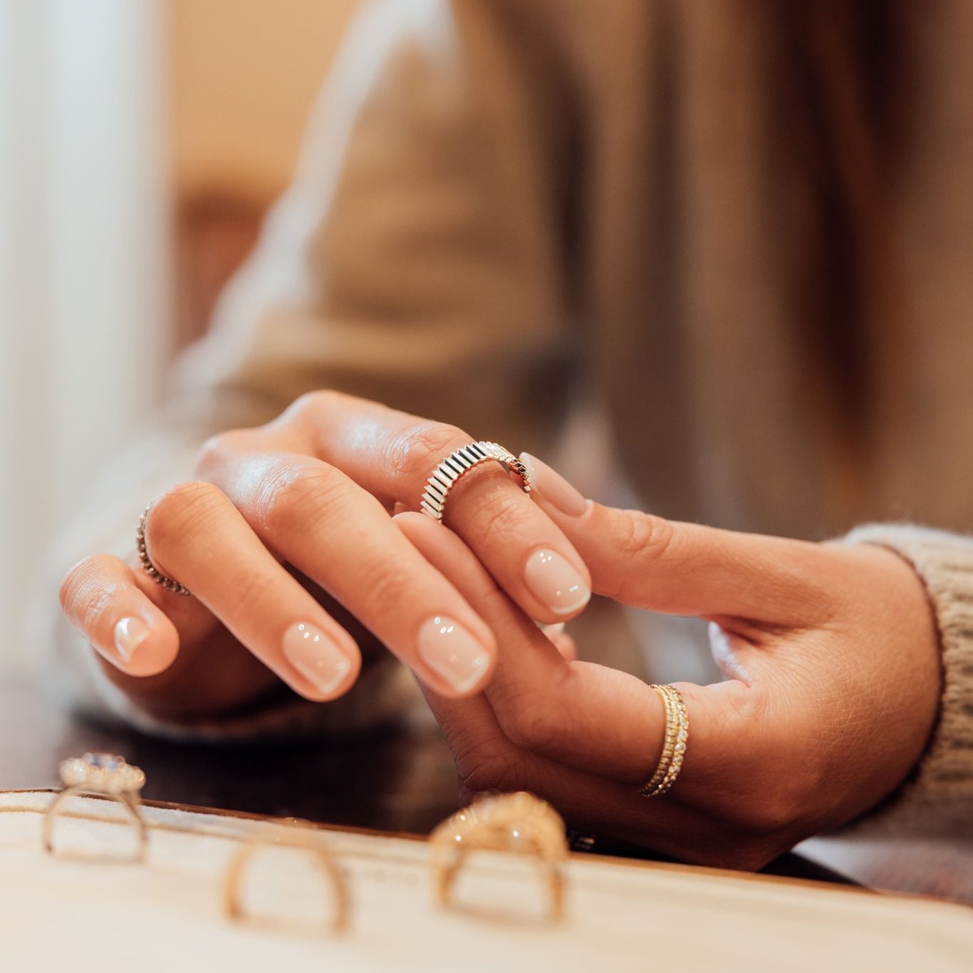
[[[544,918],[544,878],[523,859],[474,854],[455,906],[444,909],[433,899],[425,842],[313,825],[310,837],[327,844],[347,877],[349,929],[326,930],[324,883],[320,928],[234,921],[223,897],[234,850],[295,825],[145,803],[143,863],[85,859],[76,855],[134,847],[125,809],[72,799],[56,819],[65,853],[53,855],[41,845],[53,797],[0,792],[3,971],[973,968],[973,912],[962,906],[581,854],[566,865],[566,918],[555,924]],[[270,873],[278,919],[307,914],[311,886],[287,871],[300,872],[298,864],[283,858]]]

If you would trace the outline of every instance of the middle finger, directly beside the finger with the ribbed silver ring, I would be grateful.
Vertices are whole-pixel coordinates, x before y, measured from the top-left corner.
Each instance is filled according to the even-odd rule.
[[[267,547],[437,692],[486,685],[496,651],[489,627],[341,470],[306,455],[242,451],[210,475]]]

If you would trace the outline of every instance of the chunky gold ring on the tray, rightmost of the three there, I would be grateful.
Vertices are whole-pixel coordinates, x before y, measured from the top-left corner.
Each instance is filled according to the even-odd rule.
[[[498,794],[456,811],[429,836],[436,898],[450,905],[456,876],[470,852],[509,851],[536,858],[551,892],[551,919],[564,914],[567,838],[559,813],[546,801],[518,791]]]

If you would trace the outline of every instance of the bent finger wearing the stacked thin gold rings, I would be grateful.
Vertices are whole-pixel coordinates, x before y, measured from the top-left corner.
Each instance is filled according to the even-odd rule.
[[[504,734],[523,749],[578,770],[644,784],[662,754],[666,712],[651,686],[626,672],[566,664],[550,640],[497,588],[448,531],[418,514],[397,523],[424,557],[451,577],[497,636],[496,672],[486,698]],[[678,798],[706,802],[713,781],[739,766],[741,741],[759,738],[763,695],[740,682],[679,684],[691,726]],[[754,746],[753,759],[762,752]],[[745,755],[745,760],[749,760]]]

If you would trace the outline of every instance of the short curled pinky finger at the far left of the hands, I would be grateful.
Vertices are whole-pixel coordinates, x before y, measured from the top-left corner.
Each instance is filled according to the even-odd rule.
[[[71,625],[128,675],[156,675],[179,652],[175,626],[144,594],[125,561],[110,555],[79,561],[61,582],[60,601]]]

